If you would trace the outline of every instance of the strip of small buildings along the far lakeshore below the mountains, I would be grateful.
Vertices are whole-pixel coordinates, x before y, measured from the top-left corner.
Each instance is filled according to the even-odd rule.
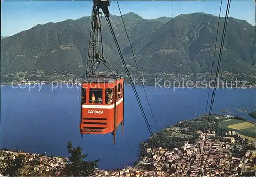
[[[53,81],[59,81],[62,84],[69,84],[70,81],[73,81],[73,85],[80,85],[82,78],[76,76],[76,70],[70,70],[70,71],[64,71],[62,73],[57,73],[55,72],[52,75],[46,75],[44,70],[36,70],[36,71],[18,71],[16,70],[13,73],[5,73],[3,77],[5,78],[5,81],[1,84],[7,84],[10,85],[12,84],[13,80],[18,80],[19,84],[37,84],[37,83],[44,83],[44,84],[52,84]],[[100,75],[105,75],[109,74],[106,71],[99,71]],[[162,81],[159,82],[160,85],[163,86],[164,81],[170,80],[173,84],[177,84],[180,81],[180,84],[178,85],[179,88],[182,87],[188,87],[188,88],[206,88],[209,87],[209,81],[206,81],[206,78],[209,78],[210,73],[197,73],[197,75],[193,74],[178,74],[175,75],[174,73],[167,73],[167,72],[156,72],[153,73],[155,78],[162,78]],[[123,73],[123,76],[126,77],[126,74]],[[136,77],[136,75],[134,75]],[[251,82],[244,82],[244,81],[239,81],[235,80],[235,78],[240,77],[249,77],[252,78]],[[148,77],[148,73],[142,72],[142,77]],[[253,79],[256,80],[255,75],[250,75],[250,74],[242,74],[242,75],[237,75],[232,72],[225,72],[221,71],[220,72],[220,78],[230,78],[228,81],[225,79],[217,81],[217,87],[219,88],[256,88],[256,83],[253,81]],[[15,79],[14,79],[15,78]],[[7,79],[7,80],[6,80]],[[74,81],[75,80],[75,81]],[[189,81],[189,82],[188,82]],[[193,81],[193,82],[191,82]],[[184,82],[184,83],[183,83]],[[182,84],[181,84],[182,83]],[[138,83],[139,84],[139,83]],[[148,82],[147,84],[155,84],[155,82]],[[214,83],[211,83],[211,87],[213,87]],[[168,85],[169,86],[169,85]]]

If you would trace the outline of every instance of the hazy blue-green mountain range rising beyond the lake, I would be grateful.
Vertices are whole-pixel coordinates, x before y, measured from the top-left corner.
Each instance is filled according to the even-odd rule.
[[[105,57],[124,72],[113,37],[102,18]],[[123,15],[133,52],[144,73],[210,72],[214,55],[218,17],[205,13],[143,19],[135,13]],[[135,66],[122,19],[110,20],[124,58],[133,70]],[[219,56],[224,18],[220,19],[216,64]],[[88,53],[91,17],[37,25],[29,30],[2,39],[1,73],[44,70],[84,74]],[[255,27],[229,17],[222,54],[221,70],[256,75]],[[133,71],[132,71],[133,72]],[[135,72],[134,72],[135,73]]]

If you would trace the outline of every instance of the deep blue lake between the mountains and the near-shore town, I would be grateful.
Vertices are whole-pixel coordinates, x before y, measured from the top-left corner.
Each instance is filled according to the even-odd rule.
[[[40,91],[39,86],[29,91],[28,85],[23,87],[1,86],[1,148],[68,157],[66,144],[71,140],[73,146],[84,149],[87,160],[101,159],[98,164],[102,169],[121,168],[138,160],[139,143],[150,133],[131,86],[125,87],[124,135],[121,129],[117,132],[115,146],[111,134],[81,137],[79,88],[63,85],[52,91],[51,85],[43,85]],[[151,129],[156,132],[143,87],[136,89]],[[145,89],[158,130],[205,114],[208,89]],[[248,112],[256,108],[256,89],[216,90],[212,113],[226,109],[231,115],[255,121],[248,112],[236,110],[243,107]]]

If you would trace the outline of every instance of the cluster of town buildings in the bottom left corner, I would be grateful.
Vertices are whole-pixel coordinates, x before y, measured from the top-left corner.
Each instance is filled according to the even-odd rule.
[[[15,160],[19,155],[24,155],[24,163],[31,164],[34,167],[35,172],[39,171],[41,173],[44,173],[55,169],[63,169],[67,164],[66,158],[47,157],[36,153],[30,154],[24,152],[2,150],[0,156],[2,168],[7,167],[7,164],[5,163],[5,158]]]

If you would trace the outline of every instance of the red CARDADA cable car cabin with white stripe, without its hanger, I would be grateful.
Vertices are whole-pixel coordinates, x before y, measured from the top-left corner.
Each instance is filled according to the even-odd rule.
[[[124,117],[124,79],[93,77],[82,82],[80,133],[114,136]]]

